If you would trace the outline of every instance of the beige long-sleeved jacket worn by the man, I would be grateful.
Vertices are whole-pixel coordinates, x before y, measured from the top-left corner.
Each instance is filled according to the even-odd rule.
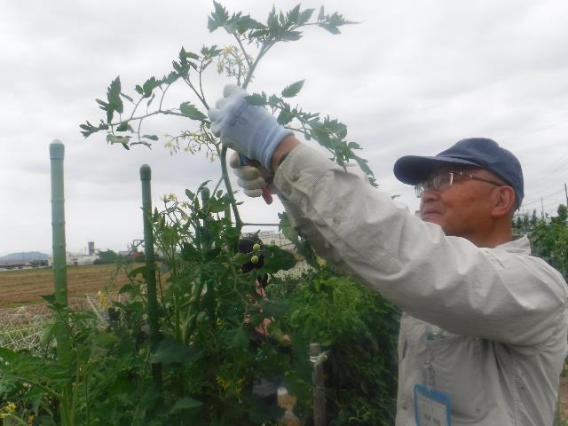
[[[308,146],[275,184],[321,256],[406,312],[397,426],[415,425],[414,385],[446,393],[454,426],[548,426],[567,353],[566,283],[526,237],[478,248],[446,237]]]

